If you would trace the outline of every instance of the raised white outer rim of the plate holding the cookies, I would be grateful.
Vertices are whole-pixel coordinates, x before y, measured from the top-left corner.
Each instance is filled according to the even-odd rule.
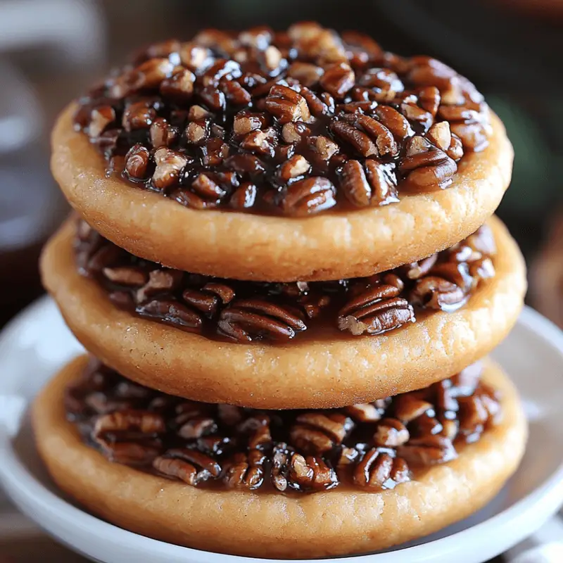
[[[52,301],[48,296],[39,298],[8,322],[0,333],[0,350],[6,346],[6,343],[11,341],[13,334],[20,325],[30,322],[30,317],[37,314],[37,310],[46,309],[50,305],[52,305]],[[563,361],[563,331],[554,323],[527,306],[521,312],[517,323],[524,325],[526,329],[538,334],[541,339],[556,348]],[[4,360],[0,360],[0,366],[2,363],[4,363]],[[22,512],[32,519],[34,519],[34,515],[39,515],[42,521],[37,522],[37,519],[34,519],[34,521],[48,533],[58,538],[58,540],[63,540],[68,545],[71,545],[73,549],[77,549],[78,546],[71,544],[68,541],[68,537],[61,538],[59,536],[59,533],[56,531],[57,526],[54,525],[55,522],[59,526],[65,527],[69,534],[72,533],[72,529],[79,528],[83,534],[87,533],[94,536],[94,533],[85,531],[95,529],[95,535],[102,536],[106,543],[123,546],[134,542],[136,549],[139,551],[143,550],[147,557],[151,555],[167,556],[174,557],[174,560],[191,560],[194,563],[272,563],[272,561],[290,561],[290,559],[243,557],[186,548],[148,538],[147,536],[141,536],[110,524],[72,505],[64,498],[61,498],[61,496],[50,491],[49,488],[46,488],[41,481],[34,479],[34,476],[15,453],[12,438],[13,436],[8,429],[0,426],[0,452],[2,454],[0,455],[0,484],[4,486],[6,494]],[[450,534],[450,536],[408,548],[385,553],[349,555],[339,557],[338,561],[343,563],[393,563],[399,554],[405,560],[407,560],[406,558],[409,555],[416,555],[421,561],[423,559],[431,561],[433,553],[436,553],[437,543],[440,544],[438,548],[442,555],[453,553],[459,549],[459,545],[470,545],[472,540],[482,538],[483,531],[486,531],[486,528],[489,527],[493,527],[495,534],[500,538],[495,545],[495,548],[498,547],[498,553],[500,553],[512,547],[515,543],[524,540],[524,538],[531,536],[552,514],[557,512],[562,502],[563,455],[559,465],[540,486],[533,489],[528,495],[519,498],[510,507],[479,522],[479,524]],[[521,532],[521,530],[525,531]],[[514,541],[514,538],[517,538],[517,540]],[[498,553],[494,555],[498,555]],[[315,559],[291,559],[293,563],[305,563],[311,560]],[[326,560],[336,561],[336,559],[331,558]]]

